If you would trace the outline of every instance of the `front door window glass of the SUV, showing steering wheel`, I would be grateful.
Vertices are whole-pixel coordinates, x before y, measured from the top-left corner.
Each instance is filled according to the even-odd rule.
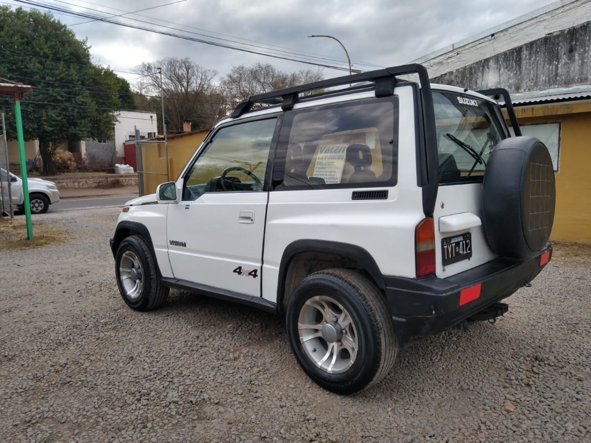
[[[183,200],[204,193],[262,191],[277,118],[221,128],[185,177]]]

